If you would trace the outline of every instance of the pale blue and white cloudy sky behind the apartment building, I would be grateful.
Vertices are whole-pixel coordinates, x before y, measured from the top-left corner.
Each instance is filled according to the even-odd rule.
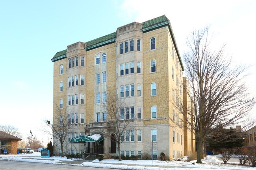
[[[48,135],[40,129],[43,120],[52,117],[50,59],[56,52],[161,15],[169,18],[181,55],[186,50],[186,36],[210,25],[214,47],[226,43],[226,55],[232,56],[235,64],[252,65],[246,81],[256,95],[255,9],[254,0],[1,1],[0,125],[16,126],[23,139],[31,128],[33,135],[46,143]]]

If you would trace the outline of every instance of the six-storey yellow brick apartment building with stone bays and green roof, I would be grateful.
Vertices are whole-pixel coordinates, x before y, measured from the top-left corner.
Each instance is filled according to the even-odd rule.
[[[106,128],[109,115],[103,109],[110,90],[126,103],[120,111],[122,119],[132,119],[133,128],[122,136],[121,155],[141,158],[151,154],[152,142],[154,158],[158,159],[161,152],[169,159],[193,152],[193,135],[184,128],[182,114],[184,99],[186,105],[190,102],[183,93],[184,67],[165,15],[71,44],[56,53],[52,62],[54,106],[66,110],[72,126],[65,143],[67,154],[86,150],[105,157],[117,155],[117,145]],[[95,143],[69,143],[80,135]],[[58,140],[53,142],[59,150]],[[193,146],[187,146],[189,142]]]

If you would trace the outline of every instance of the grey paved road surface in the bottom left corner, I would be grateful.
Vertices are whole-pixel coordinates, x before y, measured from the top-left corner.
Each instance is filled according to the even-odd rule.
[[[106,168],[94,168],[85,166],[56,165],[47,163],[30,163],[16,161],[0,161],[0,170],[106,170]],[[116,169],[108,169],[116,170]]]

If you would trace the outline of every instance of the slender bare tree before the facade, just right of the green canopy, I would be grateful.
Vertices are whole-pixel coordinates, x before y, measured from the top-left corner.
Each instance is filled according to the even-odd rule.
[[[121,161],[121,143],[125,140],[126,132],[132,130],[131,123],[133,122],[134,115],[128,115],[125,113],[126,104],[124,99],[119,99],[115,93],[115,89],[108,90],[106,102],[103,105],[104,111],[108,115],[108,134],[114,137],[117,142],[119,161]]]

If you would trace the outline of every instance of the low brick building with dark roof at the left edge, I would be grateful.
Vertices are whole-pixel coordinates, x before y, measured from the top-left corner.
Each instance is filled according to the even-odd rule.
[[[17,154],[18,141],[21,140],[19,137],[0,131],[0,154],[4,154],[4,150],[7,150],[7,154]]]

